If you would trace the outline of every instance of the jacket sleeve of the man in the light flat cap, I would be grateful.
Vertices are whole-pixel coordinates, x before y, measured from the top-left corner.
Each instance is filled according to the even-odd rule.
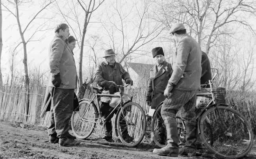
[[[177,46],[177,55],[175,59],[175,64],[172,65],[173,73],[168,83],[177,84],[187,67],[188,55],[190,52],[190,44],[185,39],[180,41]]]

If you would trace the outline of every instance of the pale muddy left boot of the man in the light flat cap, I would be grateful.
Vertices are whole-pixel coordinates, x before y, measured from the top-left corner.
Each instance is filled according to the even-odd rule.
[[[178,136],[176,121],[173,121],[171,123],[166,123],[165,121],[165,126],[166,126],[167,139],[168,139],[167,145],[160,149],[155,148],[153,152],[157,155],[164,155],[164,156],[168,155],[172,157],[177,157],[179,154],[179,147],[177,145],[179,141],[179,136]]]

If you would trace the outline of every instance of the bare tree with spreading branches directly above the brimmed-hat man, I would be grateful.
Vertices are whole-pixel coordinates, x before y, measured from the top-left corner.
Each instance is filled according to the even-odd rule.
[[[115,52],[121,52],[119,62],[122,63],[124,61],[125,65],[127,65],[127,61],[130,61],[130,58],[148,54],[147,51],[143,50],[143,47],[152,43],[166,27],[162,23],[152,21],[150,6],[153,2],[146,0],[140,2],[140,4],[135,2],[131,7],[136,12],[133,14],[132,19],[128,18],[132,11],[123,3],[126,3],[126,1],[116,1],[115,5],[112,5],[116,16],[108,15],[108,22],[111,23],[111,26],[109,28],[104,24],[103,27],[110,38],[109,45]],[[123,13],[124,10],[128,11],[128,13]],[[116,18],[119,18],[119,20]],[[128,31],[131,28],[132,31]],[[114,38],[115,36],[121,37],[121,45],[120,38]],[[130,56],[131,54],[132,56]],[[128,59],[126,59],[127,57]]]

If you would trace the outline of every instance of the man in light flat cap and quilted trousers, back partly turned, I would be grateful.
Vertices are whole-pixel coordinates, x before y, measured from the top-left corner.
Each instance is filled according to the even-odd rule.
[[[167,145],[154,149],[158,155],[195,155],[196,146],[196,93],[200,89],[201,77],[201,48],[187,31],[183,23],[176,23],[170,29],[176,41],[176,53],[173,55],[173,73],[168,80],[164,95],[166,99],[161,109],[161,116],[167,130]],[[176,113],[183,108],[181,118],[186,126],[186,145],[179,150],[177,143]]]

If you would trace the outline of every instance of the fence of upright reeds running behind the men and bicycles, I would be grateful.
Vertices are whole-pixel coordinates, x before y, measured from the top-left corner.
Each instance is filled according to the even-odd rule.
[[[146,105],[146,82],[145,79],[136,81],[135,86],[126,88],[125,93],[133,95],[133,102],[141,105],[145,113],[148,113],[149,108]],[[7,85],[3,86],[0,90],[0,120],[24,122],[33,125],[48,125],[50,118],[49,112],[46,113],[44,118],[40,118],[45,91],[46,86],[42,84],[42,82],[30,86],[30,107],[29,113],[26,115],[26,103],[28,100],[26,89],[22,85],[15,85],[12,87]],[[93,98],[91,90],[86,90],[84,98]],[[238,110],[249,119],[254,130],[256,129],[256,100],[254,98],[245,98],[243,100],[228,98],[227,103],[231,104],[234,109]],[[112,118],[112,120],[113,119],[114,118]],[[95,135],[101,133],[102,129],[95,131]]]

